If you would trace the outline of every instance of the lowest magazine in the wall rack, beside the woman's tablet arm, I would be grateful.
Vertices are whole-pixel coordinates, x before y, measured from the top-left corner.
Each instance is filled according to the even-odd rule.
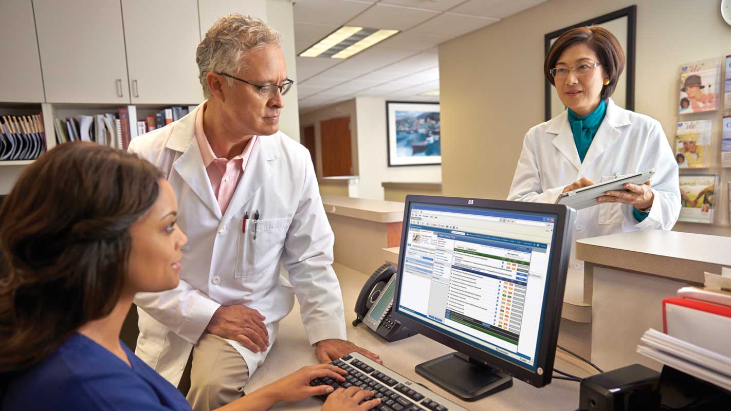
[[[718,174],[681,174],[681,216],[678,221],[713,223],[713,191]]]

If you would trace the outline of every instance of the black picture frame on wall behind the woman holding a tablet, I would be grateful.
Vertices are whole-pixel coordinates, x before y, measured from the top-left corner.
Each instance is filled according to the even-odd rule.
[[[625,107],[626,110],[635,110],[635,50],[637,50],[637,5],[633,4],[632,6],[625,7],[624,9],[619,9],[616,12],[610,12],[605,15],[600,15],[597,18],[591,18],[586,21],[582,21],[581,23],[576,23],[569,27],[561,28],[560,30],[551,31],[550,33],[546,34],[544,37],[544,45],[545,45],[545,55],[548,55],[548,50],[550,49],[550,41],[552,39],[556,39],[556,37],[561,36],[561,34],[564,34],[566,31],[571,30],[572,28],[577,27],[586,27],[591,26],[594,24],[602,24],[607,23],[612,20],[616,20],[618,18],[627,18],[627,50],[626,50],[626,65],[624,67],[624,74],[625,74],[625,80],[626,80],[626,102]],[[548,80],[545,81],[545,120],[550,120],[551,113],[550,113],[550,88],[552,85]]]

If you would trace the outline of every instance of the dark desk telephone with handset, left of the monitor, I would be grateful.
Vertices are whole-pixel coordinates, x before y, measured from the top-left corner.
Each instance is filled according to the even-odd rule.
[[[386,341],[398,341],[416,334],[391,316],[395,293],[396,270],[391,264],[379,266],[371,274],[355,301],[353,326],[365,323]]]

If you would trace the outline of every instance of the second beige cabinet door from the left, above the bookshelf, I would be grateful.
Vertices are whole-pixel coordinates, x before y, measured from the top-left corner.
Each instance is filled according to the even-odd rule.
[[[119,0],[34,0],[33,6],[46,101],[129,104]],[[148,40],[154,47],[166,41]]]

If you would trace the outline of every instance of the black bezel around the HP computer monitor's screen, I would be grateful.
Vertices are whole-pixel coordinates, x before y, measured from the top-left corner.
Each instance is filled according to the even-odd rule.
[[[571,251],[570,226],[575,212],[563,204],[540,204],[521,201],[502,201],[486,199],[469,199],[461,197],[442,196],[406,196],[404,202],[404,221],[401,226],[401,248],[405,250],[406,238],[408,236],[409,213],[413,203],[438,204],[446,206],[461,206],[474,208],[491,208],[497,210],[508,210],[511,212],[539,212],[550,213],[558,216],[554,226],[554,243],[550,255],[550,272],[548,276],[548,292],[546,294],[546,307],[542,312],[542,334],[541,337],[547,344],[539,344],[536,358],[537,371],[531,372],[517,364],[513,364],[499,356],[493,356],[466,342],[462,342],[441,331],[412,320],[412,318],[398,312],[401,299],[401,276],[404,274],[401,267],[404,266],[405,253],[398,253],[398,268],[396,269],[396,289],[394,296],[393,315],[396,320],[404,326],[423,334],[425,337],[435,340],[447,347],[459,351],[485,365],[492,366],[502,372],[510,374],[536,387],[547,385],[553,374],[553,362],[556,357],[556,344],[558,343],[558,328],[561,324],[561,308],[564,302],[564,289],[566,286],[567,264]],[[558,247],[561,245],[561,247]]]

